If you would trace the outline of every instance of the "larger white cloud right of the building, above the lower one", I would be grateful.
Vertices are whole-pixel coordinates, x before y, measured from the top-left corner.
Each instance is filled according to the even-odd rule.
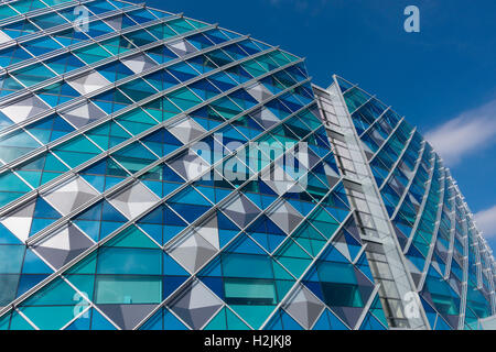
[[[496,141],[495,136],[496,99],[425,133],[425,139],[450,166],[490,146]]]

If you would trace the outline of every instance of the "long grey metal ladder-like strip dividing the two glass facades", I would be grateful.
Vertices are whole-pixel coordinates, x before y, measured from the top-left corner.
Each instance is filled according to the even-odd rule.
[[[336,77],[327,89],[313,86],[327,135],[334,147],[344,186],[379,297],[391,329],[430,329],[429,321]]]

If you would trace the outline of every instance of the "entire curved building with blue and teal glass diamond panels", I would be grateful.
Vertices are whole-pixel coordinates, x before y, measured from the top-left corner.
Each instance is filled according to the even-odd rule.
[[[143,4],[0,4],[0,329],[481,329],[450,170],[330,84]]]

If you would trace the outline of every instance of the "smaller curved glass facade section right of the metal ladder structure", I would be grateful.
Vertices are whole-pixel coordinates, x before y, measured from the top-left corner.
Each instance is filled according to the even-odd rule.
[[[401,116],[337,81],[430,326],[479,328],[494,314],[494,258],[450,170]]]

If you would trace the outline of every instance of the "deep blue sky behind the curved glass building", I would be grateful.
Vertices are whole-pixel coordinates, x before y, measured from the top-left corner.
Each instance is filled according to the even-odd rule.
[[[147,3],[280,45],[306,57],[315,84],[338,74],[395,107],[436,146],[496,251],[496,1]],[[407,6],[420,33],[403,30]]]

